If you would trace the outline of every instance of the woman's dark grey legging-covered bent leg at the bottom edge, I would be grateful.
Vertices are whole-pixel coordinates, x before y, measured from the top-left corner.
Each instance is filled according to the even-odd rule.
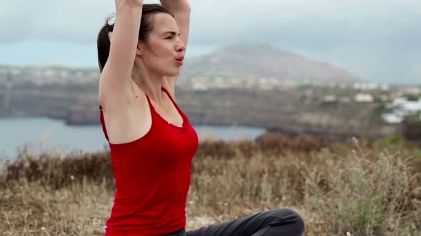
[[[188,232],[180,230],[170,236],[299,236],[303,232],[304,222],[298,213],[279,209]]]

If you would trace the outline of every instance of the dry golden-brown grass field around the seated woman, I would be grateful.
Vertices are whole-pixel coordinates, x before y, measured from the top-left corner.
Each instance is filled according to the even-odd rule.
[[[416,235],[420,154],[391,141],[356,146],[273,134],[206,141],[193,161],[187,228],[288,207],[305,219],[306,235]],[[58,156],[33,157],[24,148],[8,165],[0,180],[2,235],[104,234],[114,197],[109,153]]]

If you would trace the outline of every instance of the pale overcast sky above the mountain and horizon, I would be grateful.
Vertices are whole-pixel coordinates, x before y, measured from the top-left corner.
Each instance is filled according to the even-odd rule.
[[[147,1],[145,3],[159,3]],[[421,83],[419,0],[190,0],[187,57],[268,43],[378,83]],[[97,66],[113,0],[0,0],[0,64]]]

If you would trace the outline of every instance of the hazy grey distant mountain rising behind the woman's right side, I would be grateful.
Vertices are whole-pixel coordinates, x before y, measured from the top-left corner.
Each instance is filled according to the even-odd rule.
[[[181,77],[235,77],[309,79],[314,82],[354,82],[352,73],[311,61],[267,44],[237,44],[215,50],[210,55],[186,60]]]

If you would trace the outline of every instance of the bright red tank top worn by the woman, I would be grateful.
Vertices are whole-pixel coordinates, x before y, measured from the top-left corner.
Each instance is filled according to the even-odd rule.
[[[152,115],[147,134],[129,143],[109,144],[117,189],[106,236],[166,235],[186,226],[190,166],[198,137],[162,90],[183,117],[183,126],[165,121],[146,96]],[[100,120],[109,141],[101,106]]]

